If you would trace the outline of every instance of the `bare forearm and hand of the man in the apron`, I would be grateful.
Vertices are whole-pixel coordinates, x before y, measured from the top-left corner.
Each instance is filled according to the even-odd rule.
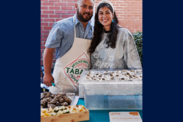
[[[51,75],[51,66],[53,62],[53,53],[55,48],[45,48],[43,54],[43,65],[44,65],[44,77],[43,83],[47,86],[51,86],[54,83],[54,78]]]

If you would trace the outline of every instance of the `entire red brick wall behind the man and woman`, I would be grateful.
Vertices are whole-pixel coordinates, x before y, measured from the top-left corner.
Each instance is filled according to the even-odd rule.
[[[95,1],[96,6],[100,0]],[[128,28],[132,33],[142,31],[142,0],[109,1],[113,3],[122,27]],[[73,16],[76,2],[77,0],[41,0],[41,64],[45,41],[53,23]]]

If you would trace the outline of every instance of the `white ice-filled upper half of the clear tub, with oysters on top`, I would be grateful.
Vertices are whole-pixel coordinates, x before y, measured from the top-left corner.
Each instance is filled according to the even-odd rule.
[[[84,98],[84,89],[98,95],[142,94],[142,69],[85,70],[79,79],[80,98]]]

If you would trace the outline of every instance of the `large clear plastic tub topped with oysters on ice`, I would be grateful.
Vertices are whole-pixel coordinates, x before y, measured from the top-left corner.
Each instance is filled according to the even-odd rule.
[[[85,71],[79,95],[89,110],[142,109],[142,70]]]

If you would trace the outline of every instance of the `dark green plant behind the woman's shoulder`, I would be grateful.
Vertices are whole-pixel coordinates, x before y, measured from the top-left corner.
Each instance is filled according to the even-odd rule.
[[[143,45],[143,41],[142,41],[142,32],[138,31],[133,33],[133,38],[140,56],[140,61],[142,64],[142,45]]]

